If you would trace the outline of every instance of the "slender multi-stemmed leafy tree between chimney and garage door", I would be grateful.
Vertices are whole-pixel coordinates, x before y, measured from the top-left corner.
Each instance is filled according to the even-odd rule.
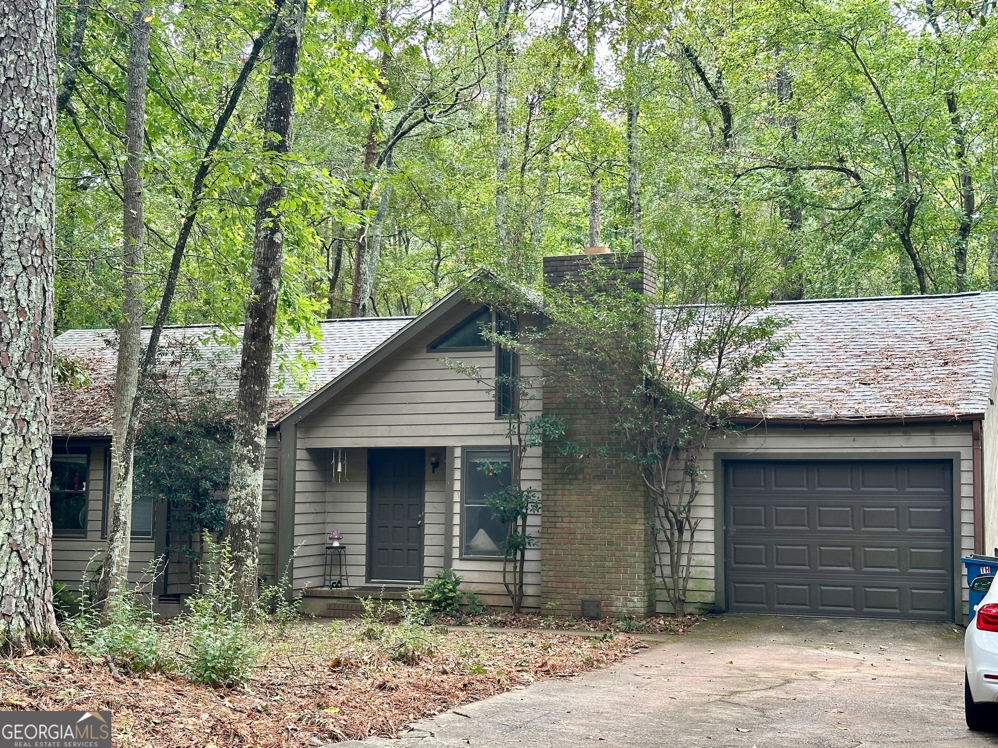
[[[656,567],[681,616],[701,524],[704,450],[712,436],[739,428],[732,416],[758,407],[772,391],[775,383],[763,381],[762,371],[784,343],[783,322],[766,312],[768,292],[748,255],[736,242],[730,249],[689,264],[659,263],[654,298],[600,263],[574,282],[545,288],[543,300],[497,282],[480,284],[476,293],[509,315],[542,313],[542,326],[495,339],[536,361],[544,387],[609,415],[613,427],[601,438],[561,441],[557,449],[601,460],[611,445],[624,445],[652,498]],[[565,431],[553,417],[537,417],[527,424],[527,440],[557,441]]]

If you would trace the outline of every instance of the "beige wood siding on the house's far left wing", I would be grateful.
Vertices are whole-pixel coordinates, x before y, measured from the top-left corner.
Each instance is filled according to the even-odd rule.
[[[76,451],[80,446],[80,452]],[[62,444],[57,443],[61,448]],[[87,484],[87,537],[52,539],[52,576],[71,589],[79,589],[85,578],[93,573],[104,556],[105,541],[101,538],[101,520],[104,515],[104,456],[106,442],[72,442],[74,454],[90,453],[90,476]],[[132,539],[129,561],[129,580],[133,583],[151,581],[144,571],[156,556],[153,539]]]

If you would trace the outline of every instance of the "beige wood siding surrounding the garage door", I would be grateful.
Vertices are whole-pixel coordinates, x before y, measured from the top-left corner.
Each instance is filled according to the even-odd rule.
[[[715,602],[715,488],[714,469],[715,454],[744,453],[752,457],[779,459],[787,455],[808,455],[815,459],[849,459],[850,456],[868,456],[871,454],[898,454],[904,459],[917,460],[920,456],[932,457],[933,453],[959,452],[960,495],[955,497],[959,502],[961,523],[959,527],[959,546],[962,554],[973,553],[973,455],[972,434],[969,423],[955,423],[938,426],[910,427],[874,427],[862,428],[756,428],[742,436],[729,436],[727,439],[713,439],[705,451],[701,467],[704,470],[704,480],[701,493],[697,498],[694,516],[701,520],[694,543],[694,569],[690,581],[689,599],[699,603],[704,609],[709,609]],[[718,476],[719,480],[724,480]],[[665,590],[661,588],[660,578],[659,602],[660,611],[668,611],[669,604],[665,601]],[[964,587],[963,598],[967,599]]]

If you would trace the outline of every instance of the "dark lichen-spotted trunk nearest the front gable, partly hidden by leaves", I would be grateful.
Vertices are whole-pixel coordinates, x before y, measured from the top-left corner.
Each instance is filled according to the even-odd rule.
[[[291,149],[294,75],[304,14],[305,0],[288,3],[287,13],[278,23],[270,55],[263,132],[269,150],[277,159]],[[283,249],[280,202],[285,193],[283,182],[268,181],[256,200],[250,300],[243,330],[225,536],[232,549],[239,603],[244,607],[251,605],[256,597],[270,362]]]

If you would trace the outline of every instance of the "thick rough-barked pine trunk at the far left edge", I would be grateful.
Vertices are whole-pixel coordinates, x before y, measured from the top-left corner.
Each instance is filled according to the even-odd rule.
[[[56,3],[0,24],[0,647],[62,646],[52,609]]]

